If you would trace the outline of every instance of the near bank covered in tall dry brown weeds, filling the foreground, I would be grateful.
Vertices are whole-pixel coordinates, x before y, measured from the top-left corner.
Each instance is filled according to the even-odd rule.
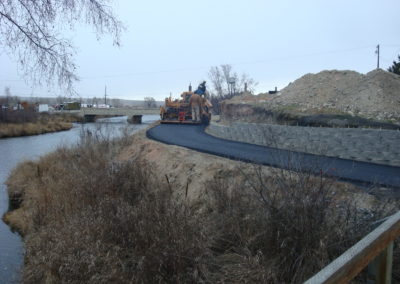
[[[24,283],[300,283],[381,216],[322,176],[259,168],[188,201],[145,160],[116,159],[130,141],[85,136],[13,171]]]

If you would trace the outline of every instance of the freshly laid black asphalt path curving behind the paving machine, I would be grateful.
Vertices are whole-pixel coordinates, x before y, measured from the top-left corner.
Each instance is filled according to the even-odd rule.
[[[149,129],[147,137],[234,160],[316,174],[322,171],[341,180],[363,185],[379,184],[400,188],[400,167],[224,140],[206,134],[204,126],[160,124]]]

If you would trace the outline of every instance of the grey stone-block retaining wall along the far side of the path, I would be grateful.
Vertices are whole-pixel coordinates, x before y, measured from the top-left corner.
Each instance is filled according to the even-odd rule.
[[[400,167],[400,131],[212,122],[207,133],[251,144]]]

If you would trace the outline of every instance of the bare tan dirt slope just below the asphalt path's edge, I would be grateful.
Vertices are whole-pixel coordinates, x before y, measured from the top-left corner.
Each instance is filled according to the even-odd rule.
[[[215,178],[229,180],[228,184],[233,186],[240,184],[245,175],[254,175],[258,168],[254,164],[156,142],[148,139],[145,131],[134,136],[132,145],[121,153],[119,159],[136,157],[150,163],[158,177],[168,178],[171,187],[176,190],[175,194],[193,201],[204,198],[207,184]],[[267,166],[261,166],[261,169],[266,176],[274,176],[280,171]],[[352,184],[335,182],[333,186],[337,188],[337,198],[355,198],[359,208],[369,208],[376,201],[375,197]]]

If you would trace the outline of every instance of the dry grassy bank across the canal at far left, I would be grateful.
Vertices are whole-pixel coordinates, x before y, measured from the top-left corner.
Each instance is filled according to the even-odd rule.
[[[72,122],[80,122],[73,115],[38,115],[33,119],[18,122],[0,122],[0,138],[38,135],[69,130]]]

